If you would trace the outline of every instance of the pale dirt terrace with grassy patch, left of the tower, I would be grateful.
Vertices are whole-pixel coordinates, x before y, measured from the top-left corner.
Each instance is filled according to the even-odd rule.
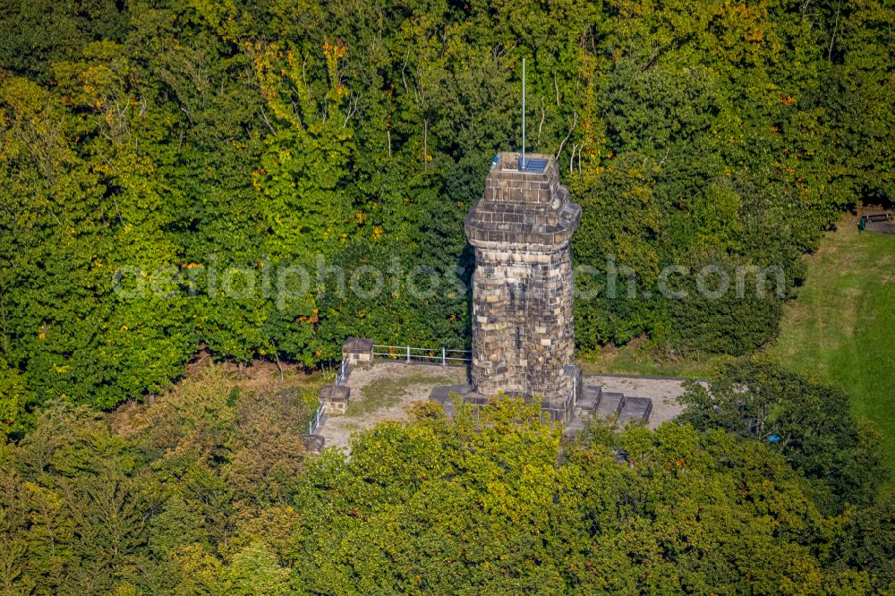
[[[405,420],[405,407],[427,401],[432,387],[465,383],[465,379],[466,370],[461,367],[376,362],[355,368],[347,383],[351,388],[348,412],[327,416],[317,433],[326,438],[326,447],[347,448],[355,430],[371,429],[381,421]]]

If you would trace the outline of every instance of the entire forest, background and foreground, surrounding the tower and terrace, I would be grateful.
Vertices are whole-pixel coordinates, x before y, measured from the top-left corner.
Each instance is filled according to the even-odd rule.
[[[0,592],[891,592],[879,436],[754,355],[893,203],[891,47],[887,0],[0,0]],[[468,347],[523,60],[579,353],[743,357],[656,430],[499,396],[316,453],[283,362]]]

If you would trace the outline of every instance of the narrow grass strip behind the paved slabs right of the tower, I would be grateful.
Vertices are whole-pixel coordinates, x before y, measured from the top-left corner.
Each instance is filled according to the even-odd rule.
[[[655,350],[648,350],[635,342],[621,347],[607,346],[592,355],[578,355],[585,373],[609,373],[684,379],[708,379],[730,356],[701,354],[669,359]]]

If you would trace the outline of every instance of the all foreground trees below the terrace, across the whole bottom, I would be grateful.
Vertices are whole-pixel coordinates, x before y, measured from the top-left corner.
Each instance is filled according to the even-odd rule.
[[[301,391],[217,367],[114,415],[48,404],[0,452],[4,592],[885,593],[891,503],[723,430],[592,424],[499,398],[309,459]]]

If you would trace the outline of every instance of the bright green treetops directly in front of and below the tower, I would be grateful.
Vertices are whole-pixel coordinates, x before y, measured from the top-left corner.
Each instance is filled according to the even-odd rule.
[[[560,451],[535,414],[504,401],[480,421],[447,421],[427,406],[416,422],[355,438],[350,461],[320,458],[297,497],[307,517],[295,536],[307,538],[294,573],[311,591],[345,593],[887,585],[867,570],[885,565],[891,532],[870,539],[882,540],[880,558],[842,565],[837,549],[857,552],[840,542],[851,521],[824,517],[813,488],[768,447],[665,425],[592,427]]]

